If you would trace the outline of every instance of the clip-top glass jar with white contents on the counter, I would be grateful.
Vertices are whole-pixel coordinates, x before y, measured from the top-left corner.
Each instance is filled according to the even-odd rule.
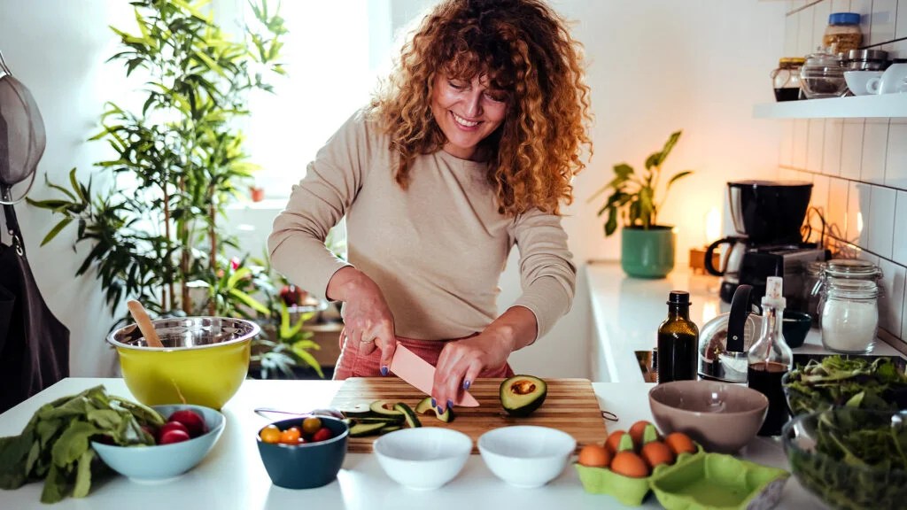
[[[835,352],[868,354],[879,328],[882,270],[866,260],[829,260],[814,293],[822,345]]]

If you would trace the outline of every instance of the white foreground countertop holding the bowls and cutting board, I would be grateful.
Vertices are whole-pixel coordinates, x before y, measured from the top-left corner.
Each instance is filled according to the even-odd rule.
[[[132,397],[119,378],[66,378],[0,415],[0,436],[17,435],[34,411],[54,398],[73,395],[102,384],[115,395]],[[24,485],[15,491],[0,490],[0,508],[54,508],[121,510],[212,508],[217,510],[291,508],[298,510],[425,510],[463,508],[570,508],[604,510],[625,508],[610,495],[587,494],[572,466],[549,485],[520,489],[506,485],[484,465],[481,456],[470,457],[459,476],[431,492],[418,492],[397,485],[378,466],[373,455],[348,454],[335,482],[308,490],[289,490],[271,485],[265,472],[255,435],[268,420],[253,412],[256,407],[278,407],[306,411],[326,407],[342,382],[246,380],[224,407],[227,427],[219,443],[199,466],[169,482],[138,484],[122,476],[95,481],[83,499],[64,499],[42,505],[42,483]],[[651,420],[648,383],[593,383],[599,405],[619,417],[610,430],[627,429],[639,419]],[[602,437],[604,440],[604,437]],[[744,458],[770,466],[787,468],[779,442],[757,437],[741,452]],[[654,495],[641,508],[659,508]],[[792,476],[785,485],[778,508],[808,510],[823,508]]]

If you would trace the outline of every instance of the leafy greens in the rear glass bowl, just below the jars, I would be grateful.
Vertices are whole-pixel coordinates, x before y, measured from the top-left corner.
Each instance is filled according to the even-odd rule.
[[[791,370],[785,391],[795,416],[834,406],[897,410],[897,398],[907,395],[907,376],[891,358],[835,355]]]

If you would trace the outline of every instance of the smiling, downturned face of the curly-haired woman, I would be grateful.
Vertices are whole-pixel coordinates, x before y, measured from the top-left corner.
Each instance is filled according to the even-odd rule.
[[[479,143],[504,121],[507,93],[493,89],[485,74],[465,80],[438,73],[432,113],[447,138],[444,151],[463,160],[477,159]]]

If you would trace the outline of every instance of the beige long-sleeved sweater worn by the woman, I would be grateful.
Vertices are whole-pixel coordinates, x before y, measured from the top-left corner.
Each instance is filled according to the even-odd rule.
[[[404,191],[388,141],[357,113],[318,151],[274,221],[274,268],[324,296],[336,270],[352,264],[384,292],[398,336],[461,338],[498,317],[498,280],[516,245],[522,295],[514,305],[532,310],[539,337],[548,332],[575,289],[561,219],[537,210],[499,214],[484,163],[444,151],[417,157]],[[324,244],[344,215],[348,263]]]

